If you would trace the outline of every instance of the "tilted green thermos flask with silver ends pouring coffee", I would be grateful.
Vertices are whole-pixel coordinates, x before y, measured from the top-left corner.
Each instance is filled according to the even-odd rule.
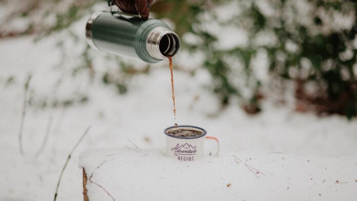
[[[86,25],[88,44],[107,53],[140,58],[157,63],[180,50],[180,38],[158,19],[142,21],[140,17],[95,12]]]

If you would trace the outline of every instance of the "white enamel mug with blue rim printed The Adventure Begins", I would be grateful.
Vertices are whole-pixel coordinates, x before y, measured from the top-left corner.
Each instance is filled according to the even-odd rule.
[[[189,129],[203,132],[202,135],[196,137],[181,137],[168,134],[170,131],[178,129]],[[207,131],[196,126],[171,126],[164,130],[166,134],[166,155],[182,161],[194,161],[203,158],[204,156],[204,140],[214,140],[217,144],[217,152],[214,156],[220,153],[220,142],[215,137],[206,136]]]

